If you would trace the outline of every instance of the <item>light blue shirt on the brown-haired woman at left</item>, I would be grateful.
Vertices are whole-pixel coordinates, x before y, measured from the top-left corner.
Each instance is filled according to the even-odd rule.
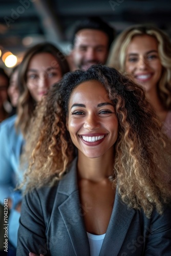
[[[14,191],[14,188],[23,176],[19,170],[19,159],[24,139],[21,133],[16,132],[15,120],[16,115],[0,124],[0,203],[4,205],[5,198],[12,198],[13,209],[8,219],[8,238],[16,247],[20,214],[14,208],[22,200],[22,195],[20,191]]]

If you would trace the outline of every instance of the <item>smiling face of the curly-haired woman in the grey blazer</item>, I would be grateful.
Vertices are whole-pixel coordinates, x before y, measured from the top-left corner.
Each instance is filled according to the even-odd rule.
[[[67,127],[78,154],[98,158],[109,151],[118,136],[113,102],[99,81],[79,84],[69,100]]]

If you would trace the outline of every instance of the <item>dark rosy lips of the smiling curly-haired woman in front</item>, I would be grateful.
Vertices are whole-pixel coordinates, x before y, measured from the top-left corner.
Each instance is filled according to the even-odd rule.
[[[88,146],[97,146],[97,145],[99,145],[99,144],[101,144],[102,142],[103,142],[103,140],[105,139],[105,137],[106,137],[106,135],[107,134],[104,134],[104,133],[94,133],[94,134],[81,134],[81,135],[78,135],[79,137],[80,137],[80,139],[81,139],[81,141],[84,143],[84,144],[86,144],[86,145],[88,145]],[[86,140],[84,140],[83,139],[83,137],[97,137],[96,138],[96,141],[86,141]],[[99,137],[102,137],[102,138],[99,138]],[[94,138],[93,138],[94,139]]]

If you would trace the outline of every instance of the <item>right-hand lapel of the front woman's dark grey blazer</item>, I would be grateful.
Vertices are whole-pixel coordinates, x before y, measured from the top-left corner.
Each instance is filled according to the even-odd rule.
[[[105,238],[100,250],[100,256],[112,255],[117,256],[124,239],[129,229],[132,219],[135,215],[135,210],[128,210],[117,194],[115,196],[114,207],[108,229],[106,230]],[[106,254],[107,253],[107,254]]]

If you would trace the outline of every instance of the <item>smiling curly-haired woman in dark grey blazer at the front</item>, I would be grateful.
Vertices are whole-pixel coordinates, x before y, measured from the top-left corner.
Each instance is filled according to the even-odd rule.
[[[143,90],[92,66],[63,76],[36,113],[18,255],[169,255],[171,147]]]

